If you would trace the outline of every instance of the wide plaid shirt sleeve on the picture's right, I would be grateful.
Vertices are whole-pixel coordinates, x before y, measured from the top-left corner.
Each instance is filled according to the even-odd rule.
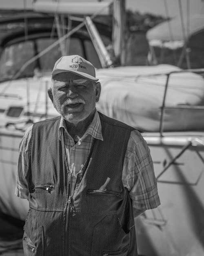
[[[142,135],[131,131],[124,158],[122,181],[129,190],[133,208],[139,212],[160,205],[153,162]]]

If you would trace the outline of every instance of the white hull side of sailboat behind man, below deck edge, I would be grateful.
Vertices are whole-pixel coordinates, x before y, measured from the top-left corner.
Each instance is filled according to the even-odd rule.
[[[204,134],[174,134],[160,140],[144,134],[149,144],[156,176],[181,152],[188,139]],[[1,210],[24,220],[29,208],[26,199],[14,195],[18,145],[22,133],[1,133]],[[177,142],[177,143],[175,143]],[[1,145],[2,145],[1,144]],[[148,210],[135,220],[138,251],[146,256],[200,256],[204,254],[204,145],[189,146],[158,179],[161,206]],[[196,252],[196,254],[195,254]]]

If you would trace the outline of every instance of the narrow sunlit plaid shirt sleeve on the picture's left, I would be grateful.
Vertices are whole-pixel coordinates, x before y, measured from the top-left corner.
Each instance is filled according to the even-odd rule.
[[[19,157],[16,174],[16,189],[15,195],[20,198],[28,199],[29,190],[26,181],[30,158],[30,139],[33,125],[25,132],[19,146]]]

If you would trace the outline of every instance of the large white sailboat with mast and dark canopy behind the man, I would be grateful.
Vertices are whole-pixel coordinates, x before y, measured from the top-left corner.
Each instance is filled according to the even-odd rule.
[[[47,97],[53,63],[61,54],[78,53],[97,67],[102,84],[97,109],[141,131],[151,150],[161,206],[135,220],[139,254],[200,256],[204,70],[169,64],[114,67],[114,58],[124,63],[124,2],[90,3],[80,15],[77,4],[36,1],[36,13],[0,19],[0,26],[11,29],[0,42],[1,212],[19,220],[27,215],[27,200],[14,196],[19,143],[33,122],[58,115]],[[101,13],[113,15],[113,27],[94,20]]]

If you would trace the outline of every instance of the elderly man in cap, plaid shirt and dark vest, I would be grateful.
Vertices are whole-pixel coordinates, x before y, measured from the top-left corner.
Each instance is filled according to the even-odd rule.
[[[101,85],[78,55],[63,56],[49,89],[60,116],[20,144],[16,195],[29,200],[26,256],[136,256],[134,217],[160,204],[140,133],[96,111]]]

